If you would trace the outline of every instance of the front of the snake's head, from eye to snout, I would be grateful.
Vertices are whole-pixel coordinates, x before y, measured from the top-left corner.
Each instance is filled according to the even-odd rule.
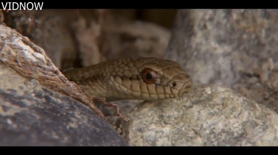
[[[142,71],[139,77],[142,85],[145,84],[148,89],[150,100],[182,97],[191,91],[192,79],[178,63],[149,59],[140,67]]]

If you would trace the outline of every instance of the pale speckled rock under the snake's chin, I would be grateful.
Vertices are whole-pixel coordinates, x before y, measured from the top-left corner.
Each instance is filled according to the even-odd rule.
[[[278,115],[218,85],[177,100],[143,102],[129,114],[132,146],[278,146]]]

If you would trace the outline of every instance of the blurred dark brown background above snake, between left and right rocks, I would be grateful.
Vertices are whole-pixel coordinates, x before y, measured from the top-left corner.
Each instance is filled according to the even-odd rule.
[[[41,10],[3,12],[4,23],[42,47],[61,70],[107,59],[163,57],[175,9]]]

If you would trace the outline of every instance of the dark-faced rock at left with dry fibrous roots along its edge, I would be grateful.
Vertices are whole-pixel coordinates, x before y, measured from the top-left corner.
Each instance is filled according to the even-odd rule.
[[[0,145],[127,145],[40,47],[0,29]]]

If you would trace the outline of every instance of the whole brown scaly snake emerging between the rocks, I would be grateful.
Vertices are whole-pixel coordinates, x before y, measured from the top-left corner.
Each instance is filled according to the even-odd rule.
[[[117,100],[164,100],[192,90],[192,79],[179,63],[154,58],[118,58],[62,72],[86,87],[89,97]]]

